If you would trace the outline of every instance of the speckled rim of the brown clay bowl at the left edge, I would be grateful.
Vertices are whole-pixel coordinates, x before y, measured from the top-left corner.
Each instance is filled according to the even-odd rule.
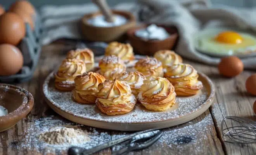
[[[31,109],[33,108],[33,105],[34,105],[34,98],[33,98],[33,95],[29,91],[27,91],[24,88],[21,88],[19,86],[1,83],[0,89],[2,89],[2,88],[16,91],[17,93],[19,93],[22,96],[23,99],[24,98],[27,99],[27,102],[22,102],[21,105],[13,112],[8,113],[7,115],[0,116],[0,126],[4,127],[5,124],[8,124],[9,122],[14,121],[12,124],[12,126],[13,126],[14,123],[16,124],[17,121],[26,117],[26,115],[28,115],[28,113],[31,111]]]

